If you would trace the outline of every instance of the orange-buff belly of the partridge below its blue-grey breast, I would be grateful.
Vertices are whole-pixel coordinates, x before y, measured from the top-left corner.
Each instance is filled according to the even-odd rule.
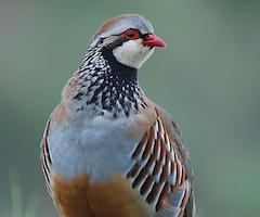
[[[125,177],[91,183],[88,175],[72,180],[55,174],[53,197],[63,217],[152,217]]]

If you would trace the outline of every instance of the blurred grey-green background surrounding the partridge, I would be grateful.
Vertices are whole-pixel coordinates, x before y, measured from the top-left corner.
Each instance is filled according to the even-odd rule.
[[[32,200],[37,217],[57,216],[40,169],[42,131],[90,37],[121,13],[145,15],[168,46],[139,77],[181,125],[198,216],[259,216],[259,11],[258,0],[1,0],[0,216],[20,200],[12,177],[18,209]]]

